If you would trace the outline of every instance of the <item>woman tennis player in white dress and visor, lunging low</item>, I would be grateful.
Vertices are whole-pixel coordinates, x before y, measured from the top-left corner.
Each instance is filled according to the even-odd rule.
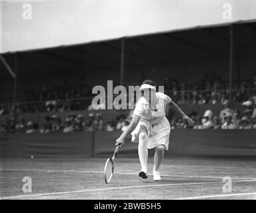
[[[143,81],[139,91],[142,97],[133,111],[131,123],[116,140],[115,145],[122,146],[129,134],[132,135],[132,142],[139,142],[138,152],[141,162],[139,176],[141,178],[147,178],[148,149],[155,148],[153,180],[161,180],[159,167],[163,160],[164,150],[168,150],[171,130],[169,121],[165,117],[166,105],[170,104],[190,125],[195,125],[195,122],[171,101],[170,97],[157,93],[156,84],[153,81]]]

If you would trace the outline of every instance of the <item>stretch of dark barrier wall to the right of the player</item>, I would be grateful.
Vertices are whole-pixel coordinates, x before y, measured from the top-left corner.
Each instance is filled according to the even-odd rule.
[[[256,130],[173,130],[170,156],[256,156]]]

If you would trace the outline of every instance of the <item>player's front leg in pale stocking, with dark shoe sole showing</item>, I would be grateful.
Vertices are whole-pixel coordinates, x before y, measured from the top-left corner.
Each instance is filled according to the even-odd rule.
[[[141,162],[141,172],[139,172],[139,176],[141,178],[147,178],[147,157],[148,157],[148,150],[147,150],[147,132],[141,131],[139,133],[139,161]]]

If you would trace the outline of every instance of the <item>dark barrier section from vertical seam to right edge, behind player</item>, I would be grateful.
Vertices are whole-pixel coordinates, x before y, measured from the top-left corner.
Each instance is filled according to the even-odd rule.
[[[95,156],[111,154],[119,136],[96,132]],[[137,143],[125,142],[120,155],[137,156]],[[256,156],[256,130],[172,130],[165,156]]]

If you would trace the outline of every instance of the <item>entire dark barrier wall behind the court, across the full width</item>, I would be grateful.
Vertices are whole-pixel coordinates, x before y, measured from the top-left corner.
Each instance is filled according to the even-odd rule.
[[[1,157],[107,157],[121,132],[0,134]],[[152,156],[153,150],[149,151]],[[119,156],[137,157],[131,138]],[[256,156],[255,130],[172,130],[165,156]]]

